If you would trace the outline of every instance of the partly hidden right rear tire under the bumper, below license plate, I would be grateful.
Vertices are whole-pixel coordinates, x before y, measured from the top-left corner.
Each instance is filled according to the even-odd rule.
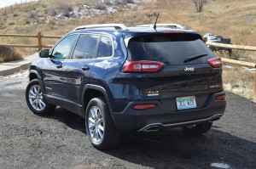
[[[188,127],[182,127],[183,132],[190,135],[201,135],[205,132],[208,132],[212,127],[212,122],[204,122],[200,124],[191,125]]]

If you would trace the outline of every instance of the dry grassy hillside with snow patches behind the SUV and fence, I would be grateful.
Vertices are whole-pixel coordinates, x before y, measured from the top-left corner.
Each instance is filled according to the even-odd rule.
[[[77,25],[113,22],[125,25],[151,24],[154,23],[155,14],[160,12],[159,23],[178,23],[201,34],[213,32],[230,37],[234,44],[256,46],[255,0],[212,0],[201,13],[195,13],[194,4],[189,0],[104,2],[40,0],[13,5],[12,9],[0,9],[0,32],[34,34],[42,31],[44,34],[63,35]],[[79,14],[83,10],[87,13]]]

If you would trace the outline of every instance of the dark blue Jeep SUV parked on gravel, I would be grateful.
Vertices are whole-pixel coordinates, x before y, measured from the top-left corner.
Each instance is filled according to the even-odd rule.
[[[196,31],[84,25],[39,55],[28,107],[48,115],[59,105],[81,115],[96,149],[116,146],[120,132],[202,134],[224,114],[221,60]]]

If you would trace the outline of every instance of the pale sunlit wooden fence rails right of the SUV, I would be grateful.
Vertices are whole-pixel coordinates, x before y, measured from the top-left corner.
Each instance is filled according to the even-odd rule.
[[[218,47],[218,48],[232,48],[232,49],[238,49],[238,50],[256,51],[256,47],[251,47],[251,46],[240,46],[240,45],[223,44],[218,42],[207,42],[207,38],[205,38],[204,41],[206,42],[207,45]],[[251,62],[245,62],[245,61],[240,61],[235,59],[225,59],[225,58],[221,58],[221,60],[227,64],[256,68],[256,64]],[[253,99],[256,99],[256,70],[254,72]]]

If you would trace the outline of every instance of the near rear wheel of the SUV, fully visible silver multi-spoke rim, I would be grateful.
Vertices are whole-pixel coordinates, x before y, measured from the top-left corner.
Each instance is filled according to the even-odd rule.
[[[113,149],[119,144],[120,132],[113,124],[104,99],[90,100],[85,112],[85,127],[90,143],[96,149]]]

